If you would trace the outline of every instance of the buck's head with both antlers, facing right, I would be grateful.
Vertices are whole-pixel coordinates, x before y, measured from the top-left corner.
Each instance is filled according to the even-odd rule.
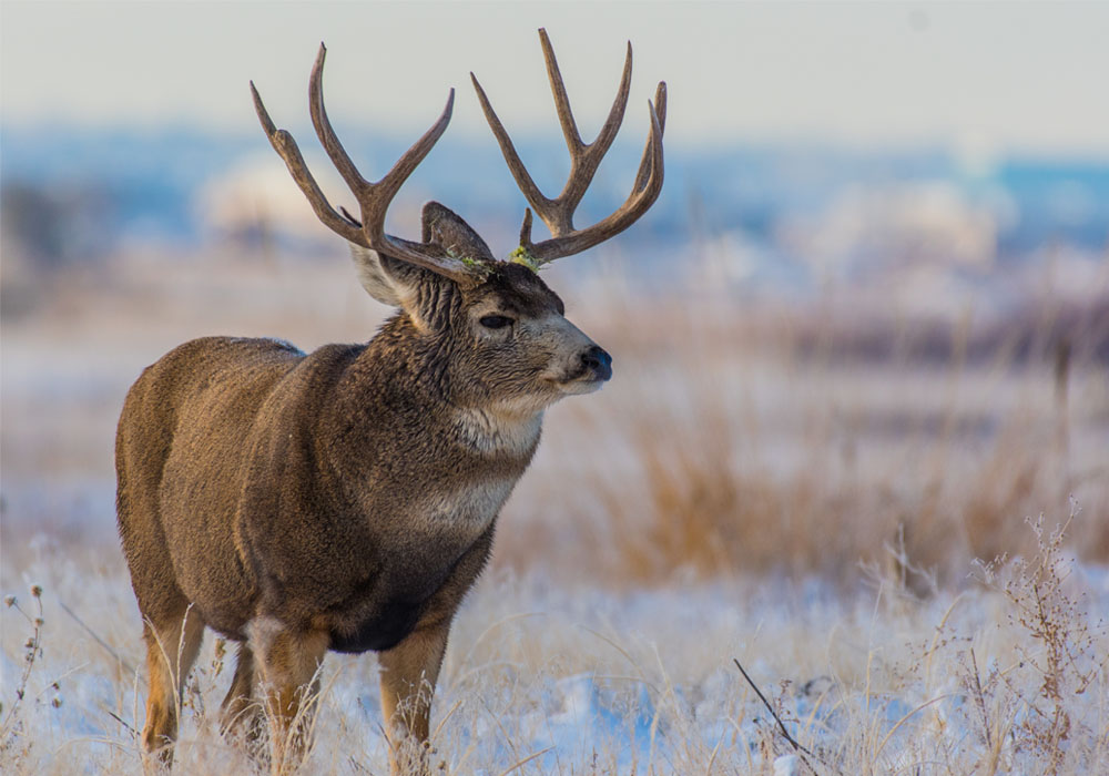
[[[471,73],[489,125],[530,204],[520,243],[506,261],[495,258],[477,232],[437,202],[424,206],[420,242],[385,232],[386,211],[397,191],[447,129],[454,90],[435,124],[380,181],[370,183],[350,161],[327,118],[323,96],[326,49],[321,44],[309,79],[308,109],[319,142],[358,202],[360,218],[356,218],[328,203],[296,142],[274,125],[251,84],[269,142],[319,219],[350,244],[363,286],[379,302],[400,308],[398,330],[449,350],[449,357],[444,354],[442,369],[449,379],[451,401],[461,407],[495,405],[501,410],[533,413],[562,396],[594,390],[611,377],[610,356],[566,319],[562,300],[537,273],[556,258],[586,251],[628,228],[654,203],[662,188],[664,83],[659,84],[654,103],[648,103],[650,135],[627,202],[592,226],[574,227],[574,210],[623,120],[631,86],[631,44],[608,121],[597,140],[586,144],[578,133],[545,30],[539,31],[539,38],[571,156],[569,180],[557,197],[547,197],[536,186]],[[532,242],[532,208],[550,229],[549,239]],[[445,341],[450,343],[449,348],[441,347]]]

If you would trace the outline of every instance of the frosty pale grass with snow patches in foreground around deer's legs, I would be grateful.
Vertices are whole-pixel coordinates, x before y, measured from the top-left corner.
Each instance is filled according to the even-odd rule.
[[[1058,531],[1032,528],[1035,555],[923,600],[881,576],[844,596],[815,579],[613,594],[490,574],[452,633],[434,764],[494,775],[779,775],[808,773],[805,763],[820,774],[1105,773],[1109,578],[1075,565]],[[26,562],[6,562],[2,580],[18,602],[2,614],[0,769],[136,772],[143,651],[121,563],[52,540],[6,553]],[[34,625],[18,609],[33,620],[40,600],[29,645]],[[187,683],[181,773],[255,767],[217,733],[224,647],[207,636]],[[387,772],[376,672],[372,655],[328,656],[306,773]]]

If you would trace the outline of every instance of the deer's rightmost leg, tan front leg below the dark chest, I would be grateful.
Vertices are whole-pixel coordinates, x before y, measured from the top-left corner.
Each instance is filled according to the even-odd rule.
[[[431,696],[449,631],[448,617],[446,622],[414,631],[397,646],[378,655],[381,715],[389,736],[389,769],[395,775],[427,773]]]

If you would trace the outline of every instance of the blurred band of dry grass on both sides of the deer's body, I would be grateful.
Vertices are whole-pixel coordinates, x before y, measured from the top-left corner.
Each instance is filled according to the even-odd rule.
[[[615,354],[617,377],[550,412],[506,509],[501,566],[607,585],[679,570],[851,584],[899,542],[946,582],[974,558],[1026,551],[1021,521],[1066,510],[1071,496],[1109,515],[1100,302],[1067,318],[1075,356],[1060,381],[1058,314],[1015,319],[1003,341],[996,321],[970,316],[944,328],[834,297],[798,310],[572,280],[563,269],[552,284]],[[3,330],[9,532],[112,535],[122,396],[179,341],[271,334],[311,348],[367,337],[384,313],[342,261],[131,258],[58,277],[42,295],[52,302]],[[1018,339],[1039,345],[1017,359]],[[1109,561],[1109,520],[1072,534],[1083,560]]]

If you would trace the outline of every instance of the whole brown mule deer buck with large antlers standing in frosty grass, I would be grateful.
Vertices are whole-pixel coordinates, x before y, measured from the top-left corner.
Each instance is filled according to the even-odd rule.
[[[370,296],[397,313],[365,345],[308,355],[273,339],[195,339],[129,391],[115,446],[119,528],[147,649],[143,743],[163,763],[172,764],[182,682],[208,626],[240,643],[223,729],[257,733],[264,711],[275,768],[304,754],[299,721],[328,650],[379,653],[390,767],[426,768],[420,752],[451,619],[489,557],[543,411],[612,374],[609,355],[563,317],[536,270],[628,228],[662,187],[660,83],[630,196],[599,223],[574,227],[623,119],[631,44],[608,120],[587,144],[550,41],[539,35],[572,157],[554,198],[536,186],[474,79],[531,205],[510,261],[495,259],[436,202],[424,206],[419,243],[385,233],[397,190],[447,129],[454,90],[431,129],[369,183],[324,110],[321,45],[308,108],[358,202],[355,218],[328,203],[251,84],[266,135],[316,215],[350,244]],[[549,239],[532,242],[532,208]]]

